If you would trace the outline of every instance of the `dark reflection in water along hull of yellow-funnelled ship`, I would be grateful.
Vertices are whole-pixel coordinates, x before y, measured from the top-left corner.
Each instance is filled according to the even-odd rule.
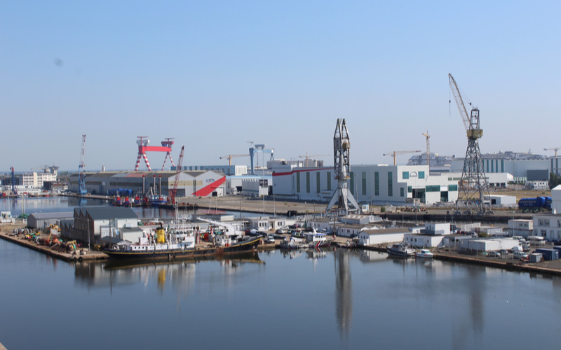
[[[109,260],[104,264],[103,269],[108,271],[119,270],[119,269],[133,269],[135,267],[144,266],[163,266],[163,265],[173,265],[180,264],[182,262],[203,262],[203,261],[225,261],[232,264],[243,263],[243,262],[253,262],[257,264],[264,264],[265,262],[259,259],[259,254],[254,251],[248,251],[245,253],[239,253],[236,255],[193,255],[186,258],[182,258],[180,261],[174,260],[169,261],[150,261],[147,260]]]

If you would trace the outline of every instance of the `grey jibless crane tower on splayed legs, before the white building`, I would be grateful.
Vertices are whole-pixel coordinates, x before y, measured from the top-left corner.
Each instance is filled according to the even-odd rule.
[[[351,174],[350,151],[351,139],[349,138],[349,130],[346,129],[345,120],[337,119],[337,126],[333,135],[333,164],[337,189],[325,211],[329,211],[335,203],[338,203],[339,209],[344,209],[345,215],[349,214],[349,211],[358,211],[358,203],[347,187],[347,181]]]

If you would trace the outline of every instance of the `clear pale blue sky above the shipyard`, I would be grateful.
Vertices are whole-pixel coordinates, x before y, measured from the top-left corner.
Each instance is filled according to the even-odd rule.
[[[551,156],[559,13],[560,1],[0,0],[0,172],[77,171],[82,134],[88,172],[134,169],[138,136],[174,138],[183,165],[227,165],[250,141],[332,165],[338,118],[351,165],[424,152],[427,131],[431,152],[463,157],[448,73],[480,109],[482,153]],[[147,156],[161,168],[165,153]]]

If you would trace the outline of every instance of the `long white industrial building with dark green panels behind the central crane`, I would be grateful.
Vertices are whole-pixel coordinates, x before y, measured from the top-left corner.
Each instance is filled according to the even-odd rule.
[[[329,168],[297,168],[273,171],[277,198],[329,202],[337,180]],[[427,165],[354,165],[349,190],[357,202],[434,204],[458,199],[458,180],[450,174],[429,174]]]

